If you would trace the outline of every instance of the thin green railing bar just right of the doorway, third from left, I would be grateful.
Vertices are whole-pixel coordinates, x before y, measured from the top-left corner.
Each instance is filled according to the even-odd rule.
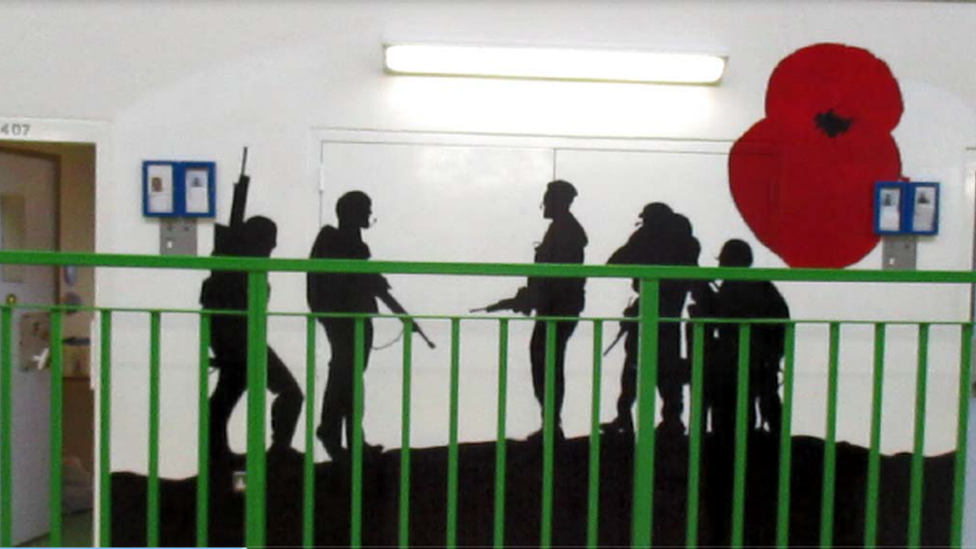
[[[112,546],[112,312],[101,312],[98,388],[98,543]]]

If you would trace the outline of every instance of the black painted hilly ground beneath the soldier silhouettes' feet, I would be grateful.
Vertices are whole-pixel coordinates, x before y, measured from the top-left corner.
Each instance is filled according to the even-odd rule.
[[[749,444],[746,544],[773,545],[776,528],[778,450],[772,438],[756,435]],[[683,546],[687,507],[687,438],[658,437],[655,484],[654,544]],[[706,457],[712,441],[706,440]],[[824,443],[810,437],[793,438],[790,543],[819,545],[821,480]],[[553,546],[586,543],[589,440],[568,439],[556,449]],[[633,441],[604,437],[601,445],[600,546],[629,546]],[[835,546],[863,544],[864,500],[868,451],[846,443],[837,445]],[[732,464],[715,459],[703,463],[699,544],[727,545],[716,539],[718,521],[729,520],[731,494],[720,489]],[[272,546],[302,543],[302,465],[268,472],[268,532]],[[538,546],[542,452],[538,442],[509,441],[506,492],[507,546]],[[364,473],[363,545],[395,546],[399,520],[399,450],[383,453],[367,463]],[[411,453],[411,546],[443,546],[446,517],[447,449],[427,448]],[[878,545],[904,546],[908,529],[910,454],[882,456]],[[922,544],[949,544],[954,454],[925,462]],[[460,446],[458,544],[493,543],[495,444]],[[320,546],[345,546],[349,536],[348,469],[331,462],[316,464],[315,541]],[[161,481],[163,546],[195,546],[196,479]],[[112,482],[113,544],[146,543],[146,479],[115,473]],[[213,474],[211,483],[210,545],[242,546],[244,498],[231,490],[227,471]],[[727,528],[724,529],[728,531]]]

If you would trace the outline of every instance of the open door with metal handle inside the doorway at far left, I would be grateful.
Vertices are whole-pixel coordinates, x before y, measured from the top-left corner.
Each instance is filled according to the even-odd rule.
[[[56,249],[57,171],[53,158],[0,150],[3,249]],[[52,304],[55,283],[51,267],[0,266],[0,299]],[[49,513],[51,376],[50,370],[24,368],[31,362],[20,352],[21,336],[29,337],[20,333],[24,314],[14,313],[13,333],[14,544],[47,533]]]

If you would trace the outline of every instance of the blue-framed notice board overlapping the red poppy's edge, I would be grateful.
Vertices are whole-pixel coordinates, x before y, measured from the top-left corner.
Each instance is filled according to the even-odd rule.
[[[874,232],[882,235],[939,234],[939,184],[875,183]]]

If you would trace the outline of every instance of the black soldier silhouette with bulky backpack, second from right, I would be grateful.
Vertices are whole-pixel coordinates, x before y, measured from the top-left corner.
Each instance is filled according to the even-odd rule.
[[[692,234],[688,218],[676,214],[661,202],[646,206],[640,214],[640,227],[627,243],[621,246],[607,261],[611,265],[698,265],[701,247]],[[639,281],[632,286],[639,290]],[[692,283],[683,280],[663,280],[660,285],[659,314],[664,318],[680,318]],[[637,317],[640,299],[635,299],[625,310],[625,317]],[[617,399],[617,417],[605,430],[611,433],[630,434],[634,431],[631,408],[637,399],[637,361],[640,326],[634,321],[620,324],[620,337],[624,338],[624,367],[620,376],[620,397]],[[616,343],[616,341],[614,342]],[[681,434],[684,425],[683,385],[688,382],[687,361],[681,358],[681,327],[676,322],[661,322],[658,328],[658,392],[663,401],[662,420],[659,429]]]

